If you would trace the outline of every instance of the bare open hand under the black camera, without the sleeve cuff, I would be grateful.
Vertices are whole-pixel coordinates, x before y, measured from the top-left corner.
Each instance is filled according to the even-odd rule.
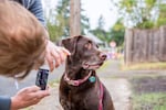
[[[50,96],[49,90],[41,90],[37,86],[23,88],[11,98],[11,110],[18,110],[35,105],[46,96]]]

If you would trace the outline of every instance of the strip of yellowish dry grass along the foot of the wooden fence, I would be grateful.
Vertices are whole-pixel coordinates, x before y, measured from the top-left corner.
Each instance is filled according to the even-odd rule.
[[[133,65],[121,64],[122,70],[136,70],[136,69],[166,69],[166,63],[142,63]]]

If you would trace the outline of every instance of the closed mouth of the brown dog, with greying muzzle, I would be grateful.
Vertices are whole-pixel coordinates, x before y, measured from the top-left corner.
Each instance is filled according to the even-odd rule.
[[[103,65],[103,62],[98,62],[98,63],[89,63],[89,62],[84,62],[82,64],[84,69],[97,69]]]

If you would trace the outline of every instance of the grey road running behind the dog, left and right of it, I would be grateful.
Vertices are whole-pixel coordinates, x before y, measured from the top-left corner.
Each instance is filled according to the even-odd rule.
[[[103,70],[100,70],[97,75],[100,77],[110,77],[110,76],[124,76],[124,77],[129,77],[129,75],[142,75],[145,74],[159,74],[159,75],[166,75],[166,70],[127,70],[127,72],[122,72],[118,68],[120,62],[118,61],[113,61],[112,64],[106,67]],[[60,66],[56,68],[53,73],[50,74],[49,80],[53,79],[60,79],[61,75],[64,72],[64,65]],[[19,87],[20,89],[27,86],[34,85],[35,82],[35,76],[37,72],[32,70],[32,73],[22,81],[19,81]],[[6,96],[13,96],[18,90],[15,89],[14,86],[14,79],[12,78],[6,78],[0,76],[0,95],[6,95]]]

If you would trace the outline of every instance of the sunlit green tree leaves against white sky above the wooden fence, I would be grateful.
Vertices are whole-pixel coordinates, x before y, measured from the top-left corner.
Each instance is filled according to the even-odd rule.
[[[112,0],[127,28],[152,29],[159,15],[157,0]]]

